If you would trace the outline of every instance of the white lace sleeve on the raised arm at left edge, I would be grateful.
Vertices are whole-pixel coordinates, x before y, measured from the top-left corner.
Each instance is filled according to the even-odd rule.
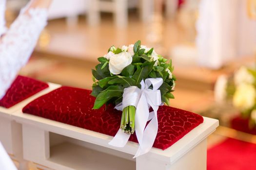
[[[0,99],[28,61],[46,24],[46,9],[30,9],[28,14],[21,12],[0,39]]]

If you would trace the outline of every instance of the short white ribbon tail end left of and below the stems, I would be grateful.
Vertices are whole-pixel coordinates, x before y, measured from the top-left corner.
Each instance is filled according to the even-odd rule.
[[[118,130],[118,133],[114,138],[108,143],[109,145],[122,148],[126,145],[131,135],[125,134],[121,129]]]

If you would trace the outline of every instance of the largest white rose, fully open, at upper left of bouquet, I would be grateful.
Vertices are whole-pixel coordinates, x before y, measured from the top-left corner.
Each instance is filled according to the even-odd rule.
[[[112,74],[120,74],[126,66],[133,61],[132,55],[129,52],[120,52],[110,57],[109,70]]]

